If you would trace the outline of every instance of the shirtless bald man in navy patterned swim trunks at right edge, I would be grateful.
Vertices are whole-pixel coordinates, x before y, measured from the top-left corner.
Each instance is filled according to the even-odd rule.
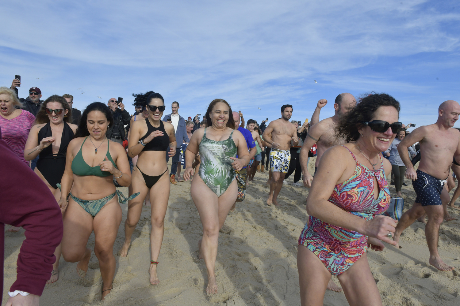
[[[450,175],[452,157],[460,161],[460,132],[452,128],[459,119],[460,105],[453,100],[443,102],[438,108],[437,122],[414,129],[398,145],[399,156],[406,165],[406,178],[412,179],[417,198],[411,209],[406,211],[396,227],[393,239],[399,242],[403,230],[423,214],[428,215],[425,227],[426,242],[430,250],[430,264],[441,271],[452,271],[439,256],[437,243],[439,226],[443,222],[441,192]],[[417,171],[409,159],[407,148],[416,142],[422,152]],[[396,245],[399,247],[399,245]]]

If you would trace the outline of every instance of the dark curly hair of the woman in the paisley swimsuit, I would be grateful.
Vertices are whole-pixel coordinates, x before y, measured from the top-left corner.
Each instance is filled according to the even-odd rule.
[[[343,137],[346,142],[358,140],[361,122],[371,121],[380,106],[393,106],[399,115],[399,102],[391,95],[376,93],[362,95],[356,107],[340,118],[337,137]]]

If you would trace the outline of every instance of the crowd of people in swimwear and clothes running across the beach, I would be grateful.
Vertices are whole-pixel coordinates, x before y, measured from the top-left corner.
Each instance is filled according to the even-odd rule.
[[[460,175],[460,132],[453,128],[460,114],[456,101],[439,106],[437,122],[409,133],[414,124],[399,122],[402,106],[387,94],[372,93],[358,100],[349,93],[339,94],[334,116],[321,121],[320,111],[328,101],[319,100],[310,123],[290,121],[293,106],[286,104],[279,119],[269,122],[267,118],[259,125],[253,119],[245,121],[242,112],[232,111],[223,99],[211,101],[202,120],[201,114],[187,120],[180,116],[177,101],[171,104],[172,112],[164,114],[165,100],[153,91],[133,94],[133,115],[115,98],[107,105],[93,102],[81,113],[72,107],[72,95],[40,100],[41,90],[32,87],[29,97],[20,99],[20,85],[15,79],[10,88],[0,88],[0,149],[8,162],[2,165],[1,177],[5,185],[28,182],[30,194],[41,197],[41,206],[32,208],[26,197],[0,221],[11,225],[10,232],[23,226],[35,233],[27,236],[24,245],[41,242],[44,246],[40,254],[30,247],[21,249],[18,280],[9,292],[12,304],[7,305],[19,305],[24,299],[38,305],[34,303],[45,284],[58,280],[61,255],[76,262],[76,272],[84,278],[92,232],[104,300],[115,275],[113,248],[122,219],[119,203],[128,207],[125,241],[119,251],[123,257],[130,250],[143,205],[150,205],[150,283],[158,284],[170,189],[189,180],[203,229],[197,249],[207,268],[206,292],[216,294],[219,229],[236,204],[245,200],[248,182],[265,169],[268,206],[279,205],[277,197],[293,173],[293,186],[309,188],[309,219],[299,236],[297,256],[302,305],[322,305],[327,289],[344,290],[351,305],[381,305],[368,265],[368,247],[381,251],[382,241],[398,247],[403,230],[417,219],[425,222],[426,216],[429,263],[441,271],[454,269],[441,259],[437,241],[443,219],[451,218],[447,206],[455,207],[460,194],[457,187],[450,199],[449,191]],[[316,163],[310,173],[312,156]],[[394,197],[402,196],[404,178],[413,181],[417,195],[399,222],[382,215],[392,198],[390,175]],[[302,176],[303,184],[299,183]],[[116,187],[128,187],[128,197]],[[10,196],[9,192],[3,189],[2,197]],[[37,210],[56,222],[43,228],[42,219],[29,217]],[[40,224],[41,232],[24,221],[28,218]],[[53,235],[48,235],[51,231]],[[34,286],[21,284],[32,274],[22,262],[28,256],[24,252],[46,262],[34,267],[34,278],[40,280]]]

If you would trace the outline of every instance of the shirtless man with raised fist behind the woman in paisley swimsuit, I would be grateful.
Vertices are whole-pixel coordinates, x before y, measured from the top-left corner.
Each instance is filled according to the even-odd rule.
[[[320,103],[322,102],[322,103]],[[319,109],[321,109],[322,106],[326,105],[328,103],[327,100],[319,100],[318,101],[318,106],[316,107],[317,112],[317,117],[319,120]],[[320,104],[322,105],[320,107]],[[335,110],[335,115],[333,117],[329,117],[326,119],[321,120],[320,122],[314,124],[311,126],[311,128],[308,130],[307,137],[305,137],[304,144],[302,145],[302,149],[300,149],[300,166],[302,167],[302,173],[304,174],[304,186],[310,188],[311,186],[311,181],[313,180],[313,177],[311,176],[310,172],[308,172],[308,165],[307,165],[307,160],[308,160],[308,151],[310,148],[315,145],[318,147],[318,155],[316,157],[316,163],[315,163],[315,172],[319,164],[319,160],[324,153],[324,151],[328,150],[330,147],[334,145],[342,145],[345,144],[344,139],[337,139],[336,136],[336,122],[339,121],[340,117],[345,115],[348,111],[353,109],[356,106],[356,99],[353,95],[349,93],[343,93],[337,96],[335,98],[335,103],[334,103],[334,110]],[[316,110],[313,113],[313,117],[315,117]],[[313,121],[314,118],[312,118]]]

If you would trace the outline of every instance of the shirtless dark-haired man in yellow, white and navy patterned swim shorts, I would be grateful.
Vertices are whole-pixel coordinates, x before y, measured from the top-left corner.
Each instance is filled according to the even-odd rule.
[[[295,125],[289,122],[291,116],[292,105],[286,104],[281,106],[281,118],[270,122],[262,135],[264,140],[271,144],[271,180],[267,205],[271,205],[271,203],[278,205],[276,198],[281,191],[284,176],[288,173],[289,161],[291,161],[291,154],[289,152],[291,140],[293,141],[293,145],[299,143],[299,139],[297,139],[297,129]]]

